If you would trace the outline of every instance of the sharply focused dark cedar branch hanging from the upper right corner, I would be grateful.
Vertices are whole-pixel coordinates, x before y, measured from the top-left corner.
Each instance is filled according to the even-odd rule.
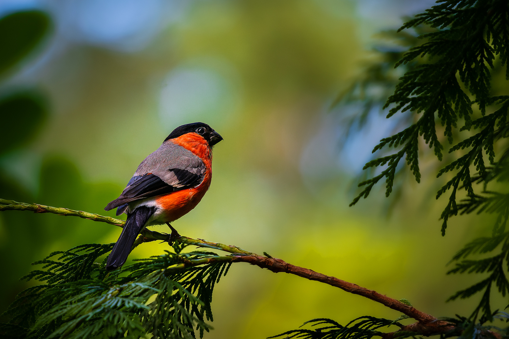
[[[443,145],[437,135],[436,125],[439,121],[443,126],[444,136],[449,143],[454,142],[455,129],[463,119],[464,126],[460,131],[483,129],[474,137],[464,140],[451,148],[449,152],[465,147],[472,147],[472,151],[442,169],[439,175],[453,169],[458,173],[439,191],[437,198],[444,192],[451,190],[449,202],[442,213],[444,223],[442,233],[447,227],[448,217],[457,214],[457,190],[459,186],[473,196],[472,180],[469,167],[476,166],[480,175],[484,174],[485,166],[482,150],[488,155],[490,163],[495,163],[494,143],[506,137],[507,97],[490,96],[490,71],[494,69],[494,60],[498,58],[502,65],[507,62],[507,48],[509,48],[509,33],[507,29],[507,2],[491,1],[439,1],[434,6],[405,23],[399,29],[420,27],[426,25],[436,29],[435,32],[422,34],[420,39],[424,43],[410,48],[395,64],[412,64],[413,66],[400,78],[394,94],[385,103],[389,108],[387,117],[407,111],[420,114],[420,118],[405,129],[391,137],[384,138],[374,148],[373,152],[384,146],[401,149],[390,156],[385,156],[367,163],[364,169],[384,166],[379,175],[362,181],[359,186],[364,190],[352,201],[358,202],[361,197],[366,198],[373,186],[383,177],[386,178],[386,195],[388,196],[394,184],[394,173],[400,160],[405,157],[417,182],[420,181],[418,164],[418,139],[423,137],[430,148],[434,148],[435,155],[442,160]],[[428,58],[428,63],[416,63],[418,58]],[[509,73],[507,73],[509,75]],[[472,102],[470,96],[474,98]],[[486,114],[490,105],[503,106],[495,113]],[[476,104],[483,117],[472,121],[474,111],[472,104]],[[436,121],[438,120],[438,121]],[[496,126],[497,135],[493,128]]]

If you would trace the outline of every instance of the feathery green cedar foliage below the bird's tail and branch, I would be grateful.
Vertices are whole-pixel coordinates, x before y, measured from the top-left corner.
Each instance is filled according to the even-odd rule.
[[[175,269],[189,260],[217,258],[212,252],[175,253],[136,260],[107,273],[105,260],[114,243],[84,244],[53,252],[22,279],[43,282],[22,291],[2,315],[3,338],[154,338],[200,337],[213,321],[214,285],[231,263]]]

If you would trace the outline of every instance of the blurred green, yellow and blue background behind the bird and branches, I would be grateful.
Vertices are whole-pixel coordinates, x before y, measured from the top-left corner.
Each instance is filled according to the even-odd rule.
[[[446,276],[446,263],[489,221],[455,218],[441,237],[444,201],[434,202],[436,167],[426,159],[425,180],[403,179],[399,200],[374,191],[349,208],[363,163],[393,126],[373,114],[342,143],[342,116],[355,107],[329,109],[376,58],[374,34],[432,5],[4,0],[0,197],[114,216],[103,207],[139,162],[175,127],[204,121],[224,141],[214,149],[210,191],[173,224],[182,235],[266,251],[437,317],[466,315],[477,300],[445,300],[473,277]],[[18,279],[32,261],[119,233],[77,218],[0,213],[0,312],[29,286]],[[130,259],[166,248],[148,243]],[[321,317],[400,316],[247,264],[216,287],[213,312],[207,338],[262,338]]]

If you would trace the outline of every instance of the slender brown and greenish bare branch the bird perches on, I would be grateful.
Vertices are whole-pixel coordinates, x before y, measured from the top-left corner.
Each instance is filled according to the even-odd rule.
[[[123,227],[125,222],[123,220],[111,218],[111,217],[104,217],[103,215],[94,214],[94,213],[88,213],[84,211],[77,211],[72,210],[68,208],[61,208],[61,207],[51,207],[51,206],[45,206],[40,204],[26,204],[26,203],[19,203],[16,201],[11,200],[5,200],[0,199],[0,211],[2,210],[32,210],[35,213],[54,213],[54,214],[60,214],[60,215],[72,215],[75,217],[80,217],[83,219],[90,219],[93,221],[98,222],[104,222],[111,225],[116,225]],[[162,240],[162,241],[168,241],[169,240],[169,234],[159,233],[155,231],[151,231],[148,229],[145,229],[142,231],[138,239],[136,239],[136,242],[134,246],[137,246],[140,243],[143,242],[149,242],[149,241],[155,241],[155,240]],[[260,256],[258,254],[244,251],[236,246],[232,245],[225,245],[218,242],[211,242],[206,241],[203,239],[193,239],[188,237],[180,237],[178,239],[181,243],[186,243],[190,245],[196,245],[202,248],[211,248],[211,249],[217,249],[225,252],[229,252],[232,255],[228,256],[216,256],[216,257],[210,257],[205,259],[197,259],[197,260],[186,260],[182,264],[176,265],[172,267],[171,269],[179,269],[184,268],[187,266],[197,266],[197,265],[203,265],[207,263],[212,262],[247,262],[251,265],[256,265],[261,268],[266,268],[272,272],[278,273],[278,272],[285,272],[289,274],[295,274],[298,276],[301,276],[302,278],[308,279],[308,280],[314,280],[318,281],[324,284],[328,284],[337,288],[340,288],[346,292],[357,294],[360,296],[363,296],[365,298],[371,299],[373,301],[379,302],[383,304],[384,306],[389,307],[392,310],[399,311],[403,313],[404,315],[407,315],[415,320],[417,322],[403,326],[399,331],[391,332],[391,333],[385,333],[383,335],[384,339],[392,339],[395,336],[398,336],[398,332],[401,331],[410,331],[410,332],[417,332],[421,335],[433,335],[433,334],[440,334],[449,332],[451,330],[454,330],[455,325],[452,323],[448,323],[443,320],[438,320],[437,318],[419,311],[415,309],[414,307],[407,305],[399,300],[390,298],[386,295],[380,294],[377,291],[373,291],[361,286],[358,286],[353,283],[346,282],[341,279],[337,279],[334,276],[325,275],[322,273],[315,272],[313,270],[295,266],[292,264],[289,264],[281,259],[272,258],[270,256]],[[501,338],[501,335],[495,332],[489,331],[487,333],[491,336],[494,336],[498,339]]]

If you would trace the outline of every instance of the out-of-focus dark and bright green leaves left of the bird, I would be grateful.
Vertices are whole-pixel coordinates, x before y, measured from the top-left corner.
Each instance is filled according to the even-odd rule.
[[[21,64],[34,54],[47,40],[51,20],[41,11],[23,11],[9,14],[0,19],[0,72]],[[4,79],[7,81],[8,79]],[[0,98],[0,159],[23,151],[30,146],[46,124],[50,105],[48,99],[37,88],[19,89],[10,86],[2,88]],[[20,201],[45,201],[48,204],[72,205],[76,208],[100,208],[101,201],[114,190],[112,185],[85,184],[74,164],[62,156],[46,156],[39,174],[40,187],[37,193],[30,192],[13,178],[5,167],[0,166],[0,196],[12,197]],[[98,206],[99,205],[99,206]],[[95,239],[88,232],[73,231],[77,221],[48,220],[36,215],[13,215],[3,213],[0,226],[15,225],[12,230],[3,230],[4,239],[21,239],[24,245],[19,251],[17,241],[2,241],[0,256],[11,258],[0,262],[0,270],[10,272],[0,281],[4,291],[0,298],[0,309],[5,310],[14,296],[26,284],[20,284],[18,277],[25,272],[24,265],[33,261],[48,244],[59,239]],[[91,231],[99,230],[92,225]],[[15,255],[13,255],[15,254]]]

